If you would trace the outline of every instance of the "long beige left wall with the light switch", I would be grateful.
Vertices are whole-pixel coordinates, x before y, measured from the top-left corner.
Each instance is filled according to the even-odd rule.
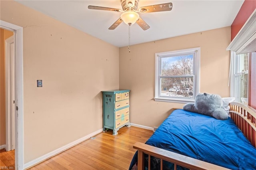
[[[101,91],[119,87],[119,49],[17,2],[0,3],[0,19],[23,27],[27,163],[102,128]]]

